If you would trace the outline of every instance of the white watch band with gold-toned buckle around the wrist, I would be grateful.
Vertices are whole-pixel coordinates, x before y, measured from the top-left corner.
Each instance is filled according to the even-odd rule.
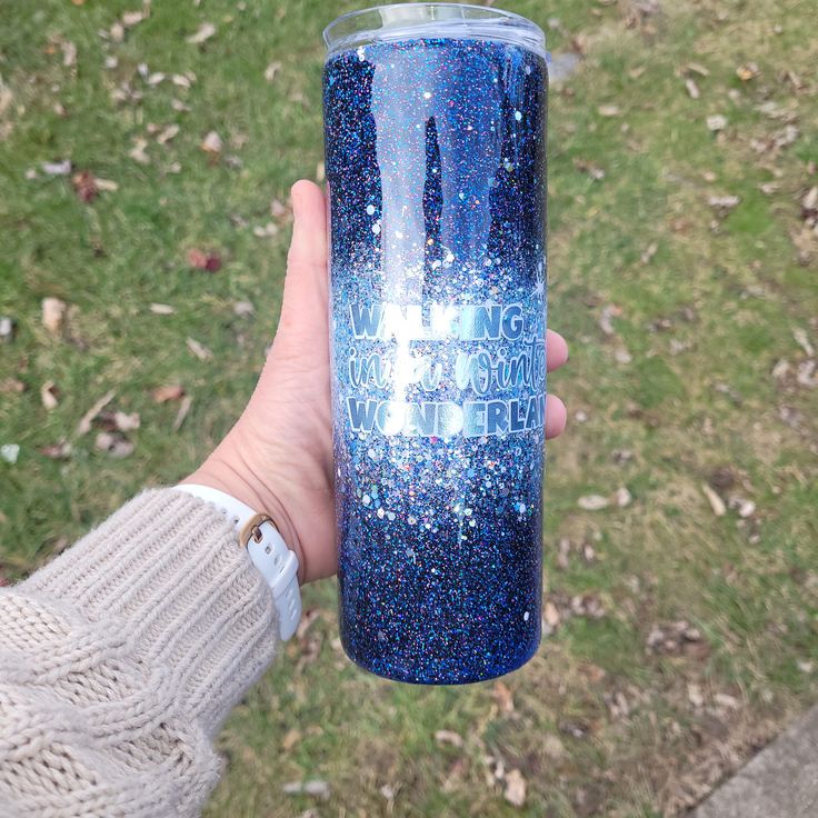
[[[215,506],[241,535],[252,525],[252,532],[247,536],[247,552],[256,568],[261,571],[272,591],[272,599],[279,615],[279,632],[287,641],[298,628],[301,619],[301,593],[298,588],[298,557],[287,548],[283,537],[278,532],[273,521],[266,515],[259,515],[235,497],[197,483],[181,483],[177,491],[198,497]],[[257,539],[259,537],[259,539]],[[243,537],[240,536],[240,539]],[[245,545],[245,542],[242,542]]]

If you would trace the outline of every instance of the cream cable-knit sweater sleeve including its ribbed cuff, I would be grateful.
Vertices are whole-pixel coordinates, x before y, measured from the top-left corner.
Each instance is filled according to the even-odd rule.
[[[277,625],[218,511],[172,489],[128,502],[0,592],[0,814],[197,816]]]

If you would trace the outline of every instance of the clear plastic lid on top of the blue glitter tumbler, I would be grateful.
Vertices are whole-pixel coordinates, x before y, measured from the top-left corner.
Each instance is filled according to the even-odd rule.
[[[460,3],[395,3],[350,11],[323,30],[329,56],[371,42],[418,38],[500,40],[546,59],[542,29],[502,9]]]

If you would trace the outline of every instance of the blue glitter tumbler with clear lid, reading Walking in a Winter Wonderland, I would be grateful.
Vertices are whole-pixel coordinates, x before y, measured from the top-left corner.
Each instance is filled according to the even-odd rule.
[[[407,3],[325,39],[343,647],[489,679],[540,641],[545,37]]]

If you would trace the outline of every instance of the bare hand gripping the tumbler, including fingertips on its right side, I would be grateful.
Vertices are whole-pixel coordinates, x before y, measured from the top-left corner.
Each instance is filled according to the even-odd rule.
[[[321,189],[292,188],[295,227],[281,317],[256,391],[239,421],[184,482],[221,489],[278,525],[298,555],[299,580],[336,572],[332,419],[329,372],[327,216]],[[548,370],[568,347],[548,330]],[[548,396],[546,437],[566,427],[566,407]]]

